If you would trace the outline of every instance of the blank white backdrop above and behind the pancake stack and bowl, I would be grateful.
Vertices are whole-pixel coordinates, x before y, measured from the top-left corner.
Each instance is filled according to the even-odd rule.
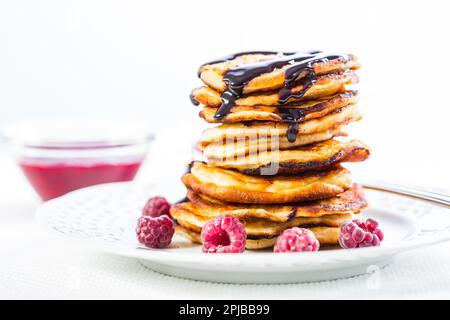
[[[432,0],[1,1],[0,126],[133,115],[160,138],[171,127],[185,136],[204,126],[188,99],[202,62],[252,49],[343,51],[363,63],[365,119],[351,133],[373,148],[355,175],[446,187],[449,12]],[[164,146],[175,140],[156,156],[173,158]]]

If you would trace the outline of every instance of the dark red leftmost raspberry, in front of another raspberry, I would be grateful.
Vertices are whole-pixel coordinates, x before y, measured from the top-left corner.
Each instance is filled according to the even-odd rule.
[[[157,218],[142,216],[136,228],[139,242],[149,248],[167,247],[174,232],[172,219],[166,215]]]

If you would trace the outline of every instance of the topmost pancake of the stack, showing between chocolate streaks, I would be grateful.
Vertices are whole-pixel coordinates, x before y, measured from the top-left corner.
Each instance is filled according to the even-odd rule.
[[[199,69],[200,79],[209,87],[219,92],[226,89],[223,77],[226,72],[255,63],[274,60],[283,57],[283,54],[237,54],[231,59],[219,59],[218,63],[208,63]],[[254,77],[243,88],[243,93],[253,93],[258,91],[268,91],[282,88],[285,78],[286,69],[291,64],[286,63],[284,66],[276,68],[268,73],[263,73]],[[324,59],[312,64],[312,68],[316,75],[324,75],[328,73],[341,72],[347,69],[358,69],[359,62],[354,55],[345,55],[335,59]]]

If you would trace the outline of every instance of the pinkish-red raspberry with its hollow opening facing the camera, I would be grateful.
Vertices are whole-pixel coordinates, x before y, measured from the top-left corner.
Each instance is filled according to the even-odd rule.
[[[205,253],[241,253],[245,250],[246,241],[244,225],[235,216],[218,216],[202,228]]]

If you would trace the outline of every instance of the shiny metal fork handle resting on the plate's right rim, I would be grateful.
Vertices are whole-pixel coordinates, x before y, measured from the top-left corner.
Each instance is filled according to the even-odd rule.
[[[431,202],[435,205],[450,209],[450,196],[442,193],[430,192],[385,182],[362,182],[366,189],[394,193],[409,198]]]

